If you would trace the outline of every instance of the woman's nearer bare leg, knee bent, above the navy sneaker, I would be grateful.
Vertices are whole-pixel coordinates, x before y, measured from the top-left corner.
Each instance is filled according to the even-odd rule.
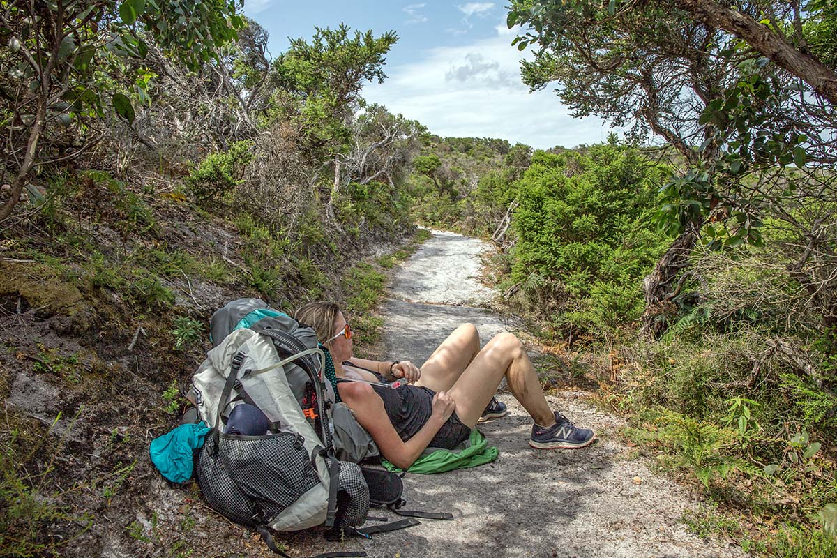
[[[424,377],[424,368],[422,369]],[[497,386],[506,376],[509,389],[537,424],[551,426],[555,416],[543,397],[541,382],[526,350],[516,335],[504,332],[490,340],[448,393],[456,402],[456,415],[474,427],[485,405],[494,397]]]

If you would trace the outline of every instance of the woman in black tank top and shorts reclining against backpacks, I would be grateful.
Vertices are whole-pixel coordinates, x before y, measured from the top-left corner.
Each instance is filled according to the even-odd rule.
[[[583,448],[596,439],[592,430],[549,408],[529,356],[511,333],[496,335],[480,350],[474,325],[460,325],[419,369],[408,361],[355,358],[352,329],[334,303],[305,305],[295,318],[316,330],[331,352],[341,399],[383,457],[399,468],[408,469],[424,448],[455,448],[480,418],[505,415],[506,406],[494,398],[504,377],[535,422],[532,448]],[[397,380],[399,387],[385,385]]]

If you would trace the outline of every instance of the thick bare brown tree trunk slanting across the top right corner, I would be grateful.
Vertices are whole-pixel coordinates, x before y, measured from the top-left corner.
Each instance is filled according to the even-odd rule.
[[[721,6],[715,0],[675,0],[697,21],[721,28],[747,41],[753,49],[768,57],[779,68],[802,79],[819,95],[837,105],[837,72],[814,58],[793,48],[785,38],[768,26],[731,8]]]

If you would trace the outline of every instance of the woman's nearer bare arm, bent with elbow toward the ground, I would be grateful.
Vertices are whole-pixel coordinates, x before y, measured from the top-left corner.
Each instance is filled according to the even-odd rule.
[[[378,397],[372,386],[364,383],[352,382],[337,385],[341,399],[352,408],[360,422],[372,439],[377,443],[381,455],[390,463],[404,470],[408,469],[419,455],[427,448],[430,440],[439,432],[445,421],[454,412],[454,400],[445,392],[439,392],[433,398],[430,417],[413,438],[404,442],[389,421],[387,411],[383,408],[383,400]]]

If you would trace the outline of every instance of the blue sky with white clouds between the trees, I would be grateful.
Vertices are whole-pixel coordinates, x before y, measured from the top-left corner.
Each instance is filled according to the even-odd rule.
[[[573,119],[552,90],[529,94],[511,46],[504,2],[288,2],[245,0],[244,13],[270,33],[280,54],[288,37],[311,38],[314,26],[398,33],[383,84],[363,96],[419,120],[439,136],[500,137],[545,149],[604,141],[595,118]]]

